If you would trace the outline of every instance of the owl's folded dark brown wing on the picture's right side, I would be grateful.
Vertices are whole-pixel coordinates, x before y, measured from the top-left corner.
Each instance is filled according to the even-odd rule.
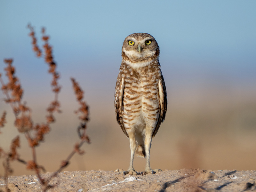
[[[166,88],[164,83],[164,77],[162,74],[161,74],[161,78],[158,81],[158,91],[159,91],[159,98],[160,98],[160,114],[156,124],[156,128],[152,135],[153,137],[155,137],[160,127],[160,124],[164,122],[165,113],[167,111],[167,93],[166,93]]]

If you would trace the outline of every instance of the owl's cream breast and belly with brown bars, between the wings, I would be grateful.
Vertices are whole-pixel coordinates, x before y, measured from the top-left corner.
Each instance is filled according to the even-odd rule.
[[[127,130],[147,125],[154,129],[160,111],[157,70],[131,68],[129,72],[124,76],[124,127]]]

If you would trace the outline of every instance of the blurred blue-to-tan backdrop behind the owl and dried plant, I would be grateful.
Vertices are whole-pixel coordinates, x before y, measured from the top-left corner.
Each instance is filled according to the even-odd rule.
[[[46,28],[60,72],[61,114],[37,148],[38,162],[55,171],[79,140],[78,108],[70,77],[75,77],[90,106],[84,156],[65,169],[126,170],[129,140],[116,123],[114,91],[124,38],[146,32],[160,46],[168,95],[164,123],[152,141],[153,169],[256,169],[256,1],[7,1],[0,2],[0,73],[13,58],[32,108],[34,123],[45,122],[53,100],[44,59],[36,58],[28,36],[35,27],[38,44]],[[6,77],[3,77],[6,82]],[[9,150],[19,134],[14,115],[0,92],[0,113],[7,111],[0,147]],[[20,158],[31,160],[21,137]],[[0,159],[1,160],[1,159]],[[145,159],[135,157],[143,171]],[[13,175],[33,174],[12,163]],[[2,163],[0,175],[3,175]]]

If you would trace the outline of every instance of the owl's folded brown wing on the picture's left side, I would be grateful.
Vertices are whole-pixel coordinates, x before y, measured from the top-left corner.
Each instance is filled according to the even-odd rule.
[[[116,121],[121,126],[124,134],[128,136],[124,128],[123,116],[122,116],[122,105],[123,105],[123,94],[124,94],[124,78],[121,78],[119,73],[116,80],[116,90],[115,90],[115,111],[116,111]]]

